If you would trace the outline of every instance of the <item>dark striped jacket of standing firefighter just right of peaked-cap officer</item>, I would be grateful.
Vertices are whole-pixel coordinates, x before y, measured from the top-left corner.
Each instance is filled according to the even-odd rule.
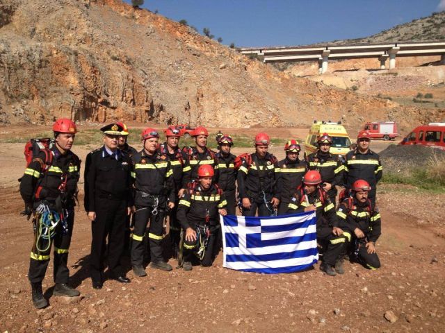
[[[175,180],[170,159],[167,155],[159,151],[152,156],[147,155],[145,150],[133,155],[133,171],[131,176],[134,179],[136,188],[135,204],[146,206],[147,194],[151,196],[161,196],[175,203]]]

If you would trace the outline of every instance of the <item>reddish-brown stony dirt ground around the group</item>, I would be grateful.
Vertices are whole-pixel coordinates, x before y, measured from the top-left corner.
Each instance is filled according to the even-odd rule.
[[[30,129],[0,128],[0,138],[13,132],[29,135]],[[307,130],[268,132],[304,137]],[[373,145],[379,151],[387,143]],[[23,144],[0,146],[0,332],[444,332],[445,194],[394,185],[378,189],[382,267],[368,271],[347,262],[346,273],[334,278],[318,264],[302,273],[241,273],[223,268],[219,255],[210,268],[147,268],[145,278],[135,278],[128,266],[131,284],[106,281],[95,290],[88,274],[90,222],[79,207],[69,266],[71,284],[82,297],[51,297],[50,264],[44,291],[51,306],[37,310],[26,277],[32,228],[19,216],[22,151]],[[83,161],[88,153],[86,146],[73,151]],[[283,156],[281,147],[273,152]],[[82,192],[83,180],[79,187]]]

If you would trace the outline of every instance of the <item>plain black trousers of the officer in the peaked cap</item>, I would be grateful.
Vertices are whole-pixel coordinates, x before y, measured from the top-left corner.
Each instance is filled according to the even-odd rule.
[[[95,201],[96,220],[91,223],[90,273],[93,281],[102,282],[105,258],[108,258],[108,271],[113,276],[123,273],[120,259],[124,250],[127,200],[96,198]]]

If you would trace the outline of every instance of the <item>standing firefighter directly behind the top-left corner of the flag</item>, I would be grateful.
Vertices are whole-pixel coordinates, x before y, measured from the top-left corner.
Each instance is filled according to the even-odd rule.
[[[234,160],[235,155],[230,153],[234,140],[230,135],[220,135],[218,139],[218,167],[220,172],[220,178],[218,180],[218,186],[224,191],[225,198],[227,200],[227,214],[236,214],[236,176],[238,171],[235,169]]]

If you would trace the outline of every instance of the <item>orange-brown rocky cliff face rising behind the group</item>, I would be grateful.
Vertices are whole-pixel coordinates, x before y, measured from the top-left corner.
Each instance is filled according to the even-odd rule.
[[[416,109],[406,119],[397,105],[291,78],[122,1],[0,3],[1,123],[70,117],[243,127],[323,118],[354,125],[373,112],[405,122],[429,117]]]

